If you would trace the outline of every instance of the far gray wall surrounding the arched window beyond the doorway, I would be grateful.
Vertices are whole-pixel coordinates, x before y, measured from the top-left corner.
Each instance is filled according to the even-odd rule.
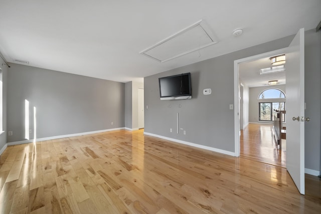
[[[279,98],[279,99],[264,99],[258,100],[259,94],[268,88],[278,88],[282,90],[285,95],[285,84],[281,85],[271,85],[271,86],[262,86],[262,87],[250,87],[250,96],[249,96],[249,122],[257,123],[257,122],[263,122],[259,121],[259,102],[285,102],[285,98]],[[285,104],[286,107],[286,104]],[[265,121],[263,123],[266,123]],[[272,123],[272,122],[271,122]]]

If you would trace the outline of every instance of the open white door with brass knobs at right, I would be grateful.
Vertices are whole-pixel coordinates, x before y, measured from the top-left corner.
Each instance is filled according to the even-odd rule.
[[[304,28],[287,48],[285,66],[286,169],[304,194]]]

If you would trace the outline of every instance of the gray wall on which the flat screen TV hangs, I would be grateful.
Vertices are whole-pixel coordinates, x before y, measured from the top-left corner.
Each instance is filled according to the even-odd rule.
[[[145,132],[234,152],[234,110],[229,109],[234,103],[234,60],[286,47],[292,38],[287,36],[145,77]],[[192,74],[193,98],[160,100],[158,77],[185,72]],[[203,95],[204,88],[212,88],[212,94]],[[174,131],[177,112],[179,126],[186,135]]]

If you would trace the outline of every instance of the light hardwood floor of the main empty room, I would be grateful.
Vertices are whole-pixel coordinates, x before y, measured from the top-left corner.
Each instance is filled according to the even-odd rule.
[[[317,177],[118,130],[8,146],[0,213],[320,213]]]

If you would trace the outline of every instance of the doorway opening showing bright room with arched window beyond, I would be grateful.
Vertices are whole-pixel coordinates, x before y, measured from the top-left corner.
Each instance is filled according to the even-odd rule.
[[[271,65],[271,56],[239,64],[240,157],[286,167],[285,134],[281,148],[273,127],[274,110],[285,110],[285,64]]]

